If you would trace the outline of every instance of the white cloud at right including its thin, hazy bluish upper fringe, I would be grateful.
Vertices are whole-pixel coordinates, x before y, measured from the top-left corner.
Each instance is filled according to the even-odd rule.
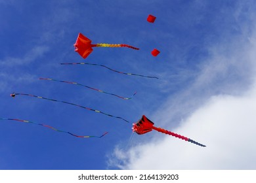
[[[156,114],[148,116],[156,126],[207,147],[153,131],[145,134],[145,139],[137,135],[136,142],[141,144],[135,143],[128,150],[117,146],[108,161],[110,166],[121,169],[256,169],[255,37],[246,31],[233,36],[233,41],[219,42],[209,48],[211,56],[201,65],[194,83],[170,96]],[[153,138],[145,141],[147,137]]]

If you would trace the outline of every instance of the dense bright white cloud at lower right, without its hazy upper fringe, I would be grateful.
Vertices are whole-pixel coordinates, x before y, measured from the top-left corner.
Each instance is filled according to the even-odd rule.
[[[255,109],[255,86],[243,96],[217,95],[173,129],[207,147],[162,136],[114,154],[122,169],[256,169]]]

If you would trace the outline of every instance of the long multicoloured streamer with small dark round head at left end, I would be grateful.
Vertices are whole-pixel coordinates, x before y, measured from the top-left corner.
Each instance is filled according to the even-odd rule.
[[[83,107],[83,106],[81,106],[81,105],[77,105],[77,104],[74,104],[74,103],[69,103],[69,102],[66,102],[66,101],[58,101],[58,100],[55,100],[55,99],[48,99],[48,98],[46,98],[46,97],[39,97],[39,96],[37,96],[37,95],[32,95],[32,94],[27,94],[27,93],[12,93],[12,94],[11,94],[11,97],[15,97],[16,95],[26,95],[26,96],[30,96],[30,97],[39,98],[39,99],[46,99],[46,100],[49,100],[49,101],[54,101],[54,102],[59,102],[59,103],[66,103],[66,104],[69,104],[69,105],[74,105],[74,106],[76,106],[76,107],[85,108],[85,109],[87,109],[87,110],[92,110],[92,111],[94,111],[94,112],[98,112],[98,113],[104,114],[104,115],[106,115],[106,116],[110,116],[110,117],[112,117],[112,118],[118,118],[118,119],[120,119],[120,120],[123,120],[123,121],[129,123],[129,121],[127,121],[127,120],[125,120],[124,118],[121,118],[121,117],[119,117],[119,116],[113,116],[113,115],[111,115],[111,114],[107,114],[107,113],[102,112],[102,111],[100,111],[100,110],[95,110],[95,109],[89,108],[89,107]]]

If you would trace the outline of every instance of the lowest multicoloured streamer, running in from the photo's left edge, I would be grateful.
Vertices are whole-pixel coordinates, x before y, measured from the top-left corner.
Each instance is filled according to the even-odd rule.
[[[62,131],[62,130],[59,130],[59,129],[56,129],[54,127],[51,127],[49,125],[45,125],[45,124],[39,124],[37,122],[31,122],[31,121],[28,121],[28,120],[19,120],[19,119],[13,119],[13,118],[0,118],[0,120],[12,120],[12,121],[17,121],[17,122],[24,122],[24,123],[30,123],[30,124],[36,124],[36,125],[42,125],[44,127],[48,127],[50,129],[53,129],[54,131],[58,131],[58,132],[63,132],[63,133],[68,133],[70,135],[73,135],[74,137],[79,137],[79,138],[92,138],[92,137],[95,137],[95,138],[101,138],[103,137],[104,135],[106,135],[108,132],[105,132],[103,133],[101,136],[91,136],[91,135],[75,135],[74,133],[70,133],[69,131]]]

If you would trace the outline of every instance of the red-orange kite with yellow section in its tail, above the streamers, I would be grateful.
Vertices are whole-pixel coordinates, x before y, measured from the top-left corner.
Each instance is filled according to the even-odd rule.
[[[93,52],[93,47],[127,47],[127,48],[132,48],[134,50],[139,50],[139,48],[135,48],[128,44],[106,44],[106,43],[91,44],[91,40],[85,37],[82,33],[78,34],[74,47],[75,47],[75,52],[77,52],[84,59],[87,58],[87,56],[89,56],[91,52]]]

